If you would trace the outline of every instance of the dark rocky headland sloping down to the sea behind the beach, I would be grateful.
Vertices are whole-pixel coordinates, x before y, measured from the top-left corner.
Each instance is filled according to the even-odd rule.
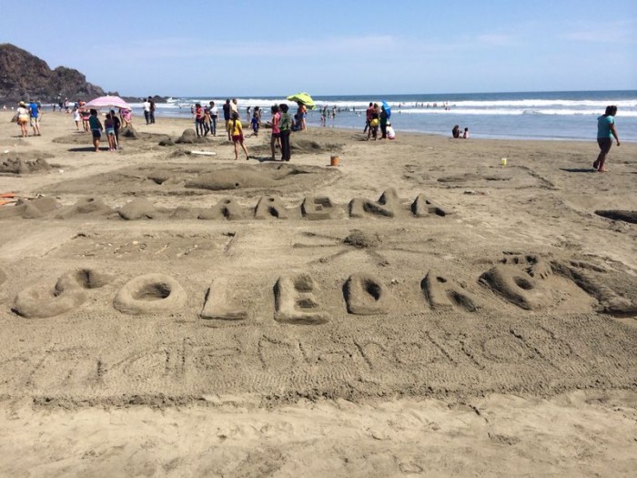
[[[75,69],[58,66],[52,70],[44,60],[22,48],[0,44],[0,103],[32,98],[47,103],[65,98],[88,101],[104,95],[102,88],[88,83],[86,76]]]

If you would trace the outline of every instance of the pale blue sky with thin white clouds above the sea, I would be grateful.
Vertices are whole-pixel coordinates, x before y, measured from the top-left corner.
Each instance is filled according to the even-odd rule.
[[[0,12],[0,43],[126,96],[637,89],[637,0],[0,0]]]

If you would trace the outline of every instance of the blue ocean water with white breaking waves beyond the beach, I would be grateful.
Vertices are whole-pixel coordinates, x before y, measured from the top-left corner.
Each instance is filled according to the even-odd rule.
[[[317,109],[308,112],[308,125],[320,126],[321,107],[329,107],[335,116],[327,127],[359,129],[365,126],[369,102],[386,101],[391,107],[391,122],[397,133],[413,131],[450,136],[451,128],[469,127],[471,137],[509,139],[581,139],[594,140],[597,117],[608,105],[616,105],[617,130],[622,141],[637,141],[637,90],[626,91],[550,91],[525,93],[463,93],[415,95],[365,95],[313,97]],[[190,106],[207,105],[214,100],[219,113],[226,97],[174,97],[157,105],[157,117],[191,117]],[[263,119],[270,117],[269,107],[286,102],[283,97],[238,97],[239,110],[247,119],[247,107],[261,107]],[[296,105],[293,106],[295,110]],[[132,105],[136,117],[142,115],[141,103]],[[139,119],[137,119],[139,120]]]

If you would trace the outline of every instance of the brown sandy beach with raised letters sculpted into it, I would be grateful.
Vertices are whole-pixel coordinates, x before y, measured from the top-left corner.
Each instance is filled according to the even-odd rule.
[[[637,469],[637,145],[10,117],[0,475]]]

